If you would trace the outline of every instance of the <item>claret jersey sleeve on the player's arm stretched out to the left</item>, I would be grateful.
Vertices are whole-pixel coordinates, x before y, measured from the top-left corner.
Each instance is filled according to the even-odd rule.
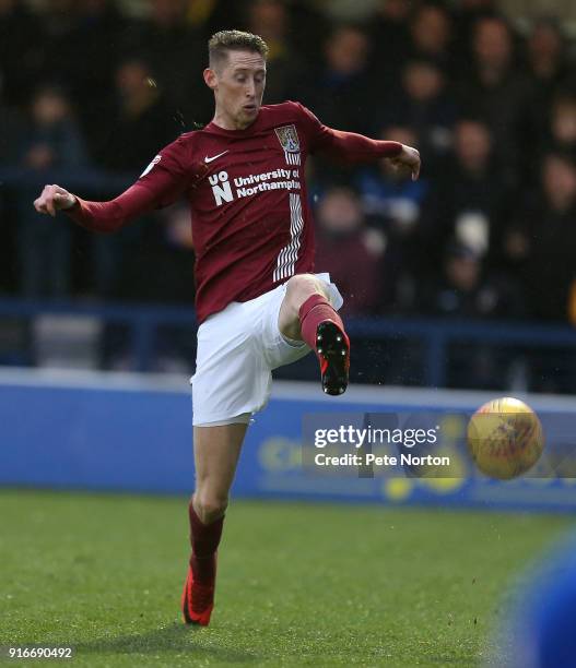
[[[138,181],[108,202],[89,202],[77,195],[77,203],[64,213],[82,227],[113,232],[138,216],[175,202],[187,189],[193,188],[207,169],[195,164],[189,142],[183,138],[163,148],[144,169]]]

